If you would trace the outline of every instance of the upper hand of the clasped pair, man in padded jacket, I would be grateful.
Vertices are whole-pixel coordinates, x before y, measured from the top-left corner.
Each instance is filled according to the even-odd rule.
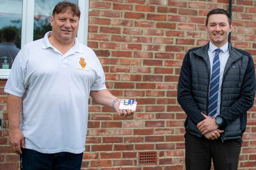
[[[204,115],[205,119],[200,121],[196,126],[202,135],[218,129],[219,126],[215,123],[215,118],[211,118],[203,113],[202,115]]]

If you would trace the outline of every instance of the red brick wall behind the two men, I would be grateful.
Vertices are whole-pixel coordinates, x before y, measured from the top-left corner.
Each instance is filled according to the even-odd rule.
[[[88,46],[98,55],[108,89],[138,101],[132,117],[90,100],[86,170],[185,170],[184,119],[176,100],[183,57],[208,43],[206,14],[228,9],[228,0],[90,0]],[[233,0],[232,45],[256,57],[256,1]],[[0,110],[6,115],[5,81]],[[18,156],[0,131],[0,169],[18,170]],[[240,170],[256,170],[256,107],[248,111]],[[140,165],[138,152],[157,153],[155,165]]]

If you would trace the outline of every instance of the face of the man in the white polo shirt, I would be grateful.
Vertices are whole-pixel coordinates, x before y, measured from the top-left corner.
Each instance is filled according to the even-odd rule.
[[[79,17],[68,8],[51,17],[53,38],[63,44],[74,43],[79,27]]]

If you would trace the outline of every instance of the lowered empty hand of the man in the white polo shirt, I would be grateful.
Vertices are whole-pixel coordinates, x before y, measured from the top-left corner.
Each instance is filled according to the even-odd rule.
[[[9,130],[9,144],[16,154],[22,154],[20,147],[25,148],[25,140],[20,129]]]

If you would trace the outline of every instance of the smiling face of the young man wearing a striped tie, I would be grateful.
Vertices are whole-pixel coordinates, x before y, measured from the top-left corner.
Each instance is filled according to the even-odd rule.
[[[233,30],[233,23],[229,25],[225,14],[212,14],[205,27],[213,45],[221,47],[228,42],[228,34]]]

